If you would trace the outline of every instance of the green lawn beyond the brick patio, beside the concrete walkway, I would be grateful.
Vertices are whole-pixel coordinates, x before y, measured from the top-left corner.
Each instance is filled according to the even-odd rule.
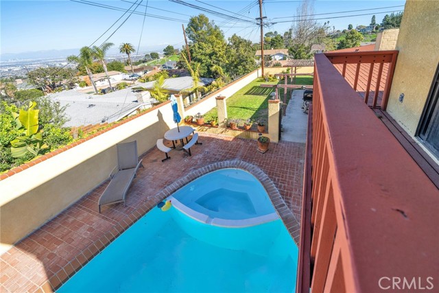
[[[268,99],[272,88],[263,88],[261,84],[277,84],[278,82],[261,82],[259,79],[253,80],[227,99],[227,116],[233,119],[252,119],[254,121],[263,119],[268,120]],[[283,80],[279,83],[283,84]],[[291,84],[288,80],[288,84]],[[298,76],[296,84],[313,84],[311,76]],[[287,97],[291,97],[292,90],[287,90]],[[279,94],[283,97],[283,89],[279,89]],[[217,108],[213,108],[204,115],[204,121],[209,121],[217,117]],[[222,121],[219,121],[222,122]]]

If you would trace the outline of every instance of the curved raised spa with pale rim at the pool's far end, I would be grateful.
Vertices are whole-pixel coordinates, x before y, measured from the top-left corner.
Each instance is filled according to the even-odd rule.
[[[220,169],[176,191],[176,209],[206,224],[244,227],[278,219],[257,178],[241,169]]]

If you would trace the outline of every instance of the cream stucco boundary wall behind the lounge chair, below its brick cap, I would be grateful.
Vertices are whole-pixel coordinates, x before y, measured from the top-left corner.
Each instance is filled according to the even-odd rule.
[[[139,154],[154,147],[158,138],[175,127],[172,117],[171,104],[166,103],[1,180],[2,246],[19,241],[106,180],[117,165],[117,143],[137,140]]]

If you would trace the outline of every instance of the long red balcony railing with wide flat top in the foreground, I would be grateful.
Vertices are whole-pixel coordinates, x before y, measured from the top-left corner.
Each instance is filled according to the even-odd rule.
[[[317,54],[296,292],[437,290],[439,191],[357,97]]]

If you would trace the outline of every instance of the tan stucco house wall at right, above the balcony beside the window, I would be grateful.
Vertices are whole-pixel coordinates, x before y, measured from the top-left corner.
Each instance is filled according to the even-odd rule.
[[[437,1],[407,1],[399,30],[399,50],[387,111],[414,135],[439,62]],[[399,95],[403,93],[403,102]]]

